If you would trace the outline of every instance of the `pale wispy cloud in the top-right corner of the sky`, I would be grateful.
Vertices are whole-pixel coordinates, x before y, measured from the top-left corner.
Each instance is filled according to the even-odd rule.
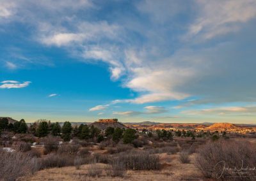
[[[238,31],[239,23],[248,22],[256,16],[256,1],[207,1],[198,0],[199,17],[189,27],[189,36],[199,34],[204,39]]]

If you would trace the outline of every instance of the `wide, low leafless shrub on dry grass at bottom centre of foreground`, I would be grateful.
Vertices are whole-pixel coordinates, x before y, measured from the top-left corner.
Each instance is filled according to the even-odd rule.
[[[116,158],[120,163],[124,163],[125,168],[131,170],[159,170],[159,156],[150,155],[148,152],[135,152],[120,155]]]

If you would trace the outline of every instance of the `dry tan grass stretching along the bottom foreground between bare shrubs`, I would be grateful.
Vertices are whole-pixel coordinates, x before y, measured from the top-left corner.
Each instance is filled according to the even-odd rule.
[[[159,159],[163,168],[159,171],[126,171],[124,177],[111,177],[107,174],[106,166],[109,164],[97,163],[102,168],[100,177],[89,177],[88,168],[90,164],[81,165],[80,170],[76,170],[75,166],[63,168],[51,168],[38,171],[35,175],[23,177],[22,180],[37,181],[37,180],[62,180],[62,181],[82,181],[82,180],[202,180],[202,174],[195,168],[195,154],[191,156],[191,163],[182,164],[179,161],[179,155],[159,154]]]

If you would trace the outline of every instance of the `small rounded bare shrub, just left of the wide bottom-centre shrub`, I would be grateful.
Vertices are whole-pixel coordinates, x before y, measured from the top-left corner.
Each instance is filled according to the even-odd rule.
[[[105,171],[107,175],[111,177],[124,177],[126,172],[124,163],[118,161],[118,159],[113,159],[111,163],[106,166]]]

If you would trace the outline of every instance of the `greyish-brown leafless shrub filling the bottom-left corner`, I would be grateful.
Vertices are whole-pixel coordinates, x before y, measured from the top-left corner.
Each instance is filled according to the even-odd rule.
[[[0,155],[0,180],[16,180],[36,171],[36,160],[31,159],[28,154],[0,150]]]

